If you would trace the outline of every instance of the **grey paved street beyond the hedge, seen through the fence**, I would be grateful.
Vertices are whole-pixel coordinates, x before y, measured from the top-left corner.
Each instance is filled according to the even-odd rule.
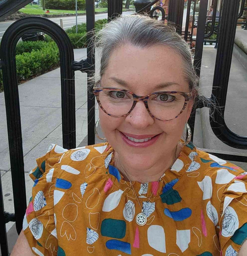
[[[132,13],[134,13],[134,11],[123,12],[123,15],[128,15]],[[106,18],[107,18],[107,13],[95,14],[95,20],[106,19]],[[76,25],[76,16],[68,16],[68,17],[65,16],[65,17],[49,18],[49,19],[51,19],[52,21],[56,22],[59,25],[60,25],[60,19],[63,19],[64,29],[67,29]],[[0,22],[0,40],[3,37],[3,34],[6,31],[6,29],[15,21],[16,20]],[[77,21],[78,21],[78,24],[85,23],[86,15],[78,16]]]

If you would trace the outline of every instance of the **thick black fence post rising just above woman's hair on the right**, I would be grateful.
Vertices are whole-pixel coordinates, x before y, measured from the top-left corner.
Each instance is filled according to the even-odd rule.
[[[170,0],[168,21],[176,24],[177,33],[182,34],[184,0]]]

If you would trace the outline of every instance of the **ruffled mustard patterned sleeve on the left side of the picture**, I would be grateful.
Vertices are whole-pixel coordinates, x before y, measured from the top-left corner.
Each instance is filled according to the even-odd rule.
[[[53,193],[57,177],[56,166],[65,151],[67,150],[51,144],[48,152],[36,159],[37,167],[29,174],[34,185],[23,220],[23,231],[34,255],[57,255]]]

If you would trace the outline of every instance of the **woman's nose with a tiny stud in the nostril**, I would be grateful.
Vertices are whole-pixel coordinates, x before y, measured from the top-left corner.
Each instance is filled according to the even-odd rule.
[[[138,101],[130,114],[126,117],[126,122],[130,123],[135,129],[142,130],[152,125],[154,118],[147,111],[144,102]]]

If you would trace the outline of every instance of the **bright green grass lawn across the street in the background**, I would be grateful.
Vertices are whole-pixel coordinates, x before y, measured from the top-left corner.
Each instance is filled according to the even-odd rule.
[[[63,13],[74,13],[75,14],[76,13],[75,10],[53,10],[53,9],[47,9],[47,8],[44,11],[41,6],[30,5],[30,4],[26,5],[24,8],[21,8],[19,11],[22,13],[37,15],[37,14],[45,14],[46,10],[50,11],[50,13],[47,13],[48,15],[49,14],[50,15],[63,14]],[[123,8],[123,11],[124,10],[127,10],[127,9]],[[107,12],[107,8],[95,8],[95,12]],[[86,13],[86,10],[81,10],[81,11],[78,10],[77,13]]]

